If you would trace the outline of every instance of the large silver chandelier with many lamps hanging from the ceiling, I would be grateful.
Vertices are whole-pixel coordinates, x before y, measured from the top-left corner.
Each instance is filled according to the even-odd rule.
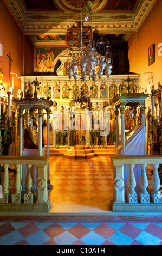
[[[86,1],[86,4],[89,3],[91,2]],[[91,22],[92,17],[90,16],[90,5],[86,5],[86,10],[87,16],[85,17],[85,20]],[[88,26],[88,28],[90,28],[90,33],[87,38],[86,34],[82,32],[83,28],[81,1],[80,35],[77,36],[77,43],[74,44],[73,39],[73,44],[69,48],[70,53],[67,69],[69,79],[74,77],[74,80],[76,81],[79,76],[79,72],[83,82],[86,77],[88,77],[89,80],[92,78],[94,82],[97,76],[99,79],[101,79],[102,75],[109,77],[112,73],[113,64],[111,46],[109,46],[108,40],[99,34],[94,38],[92,25]],[[77,57],[74,51],[80,51],[80,56]]]

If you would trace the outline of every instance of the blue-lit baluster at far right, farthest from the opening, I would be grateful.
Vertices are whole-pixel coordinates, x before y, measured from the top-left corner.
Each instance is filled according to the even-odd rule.
[[[158,174],[159,164],[152,164],[152,166],[153,166],[153,174],[151,179],[151,185],[153,186],[153,190],[151,191],[151,200],[153,203],[162,203],[162,198],[159,193],[159,186],[160,186],[160,178]]]

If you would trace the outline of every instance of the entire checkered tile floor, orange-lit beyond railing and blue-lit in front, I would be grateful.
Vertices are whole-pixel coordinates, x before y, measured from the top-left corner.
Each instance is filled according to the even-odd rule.
[[[64,212],[67,205],[70,211],[82,205],[93,212],[96,205],[107,206],[113,198],[113,166],[106,155],[87,160],[50,157],[50,181],[51,207]],[[148,184],[151,189],[151,172]],[[0,244],[159,245],[162,221],[0,222]]]

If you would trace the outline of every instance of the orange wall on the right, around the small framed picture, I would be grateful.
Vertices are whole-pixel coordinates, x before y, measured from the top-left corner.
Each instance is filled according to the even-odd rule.
[[[147,88],[147,75],[154,74],[154,89],[162,84],[162,55],[158,56],[158,44],[162,53],[162,0],[158,0],[137,33],[128,39],[130,72],[141,74],[141,87]],[[148,66],[148,48],[155,44],[155,62]],[[148,74],[146,74],[148,73]]]

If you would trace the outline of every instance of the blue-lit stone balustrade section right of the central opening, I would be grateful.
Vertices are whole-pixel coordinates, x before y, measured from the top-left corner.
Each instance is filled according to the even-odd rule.
[[[162,186],[158,175],[158,166],[162,164],[161,155],[147,156],[109,156],[114,165],[114,198],[111,202],[113,211],[161,211]],[[128,164],[128,190],[125,193],[124,165]],[[140,164],[141,175],[139,191],[135,191],[136,180],[133,172],[135,164]],[[152,164],[152,190],[148,192],[147,167]]]

